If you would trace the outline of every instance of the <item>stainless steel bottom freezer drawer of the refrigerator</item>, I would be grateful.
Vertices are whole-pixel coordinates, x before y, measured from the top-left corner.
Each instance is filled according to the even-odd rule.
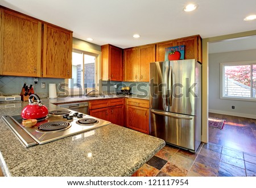
[[[195,116],[150,110],[150,135],[195,152]]]

